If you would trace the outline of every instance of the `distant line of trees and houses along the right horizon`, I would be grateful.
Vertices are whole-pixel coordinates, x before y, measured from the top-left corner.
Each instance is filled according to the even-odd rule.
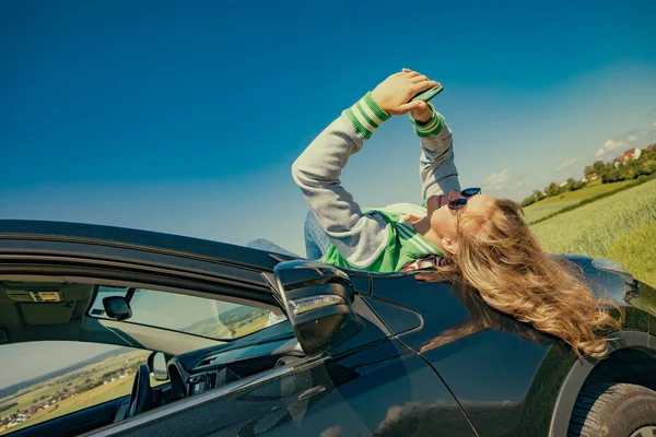
[[[619,182],[621,180],[637,179],[641,176],[648,176],[656,173],[656,147],[644,149],[637,160],[630,160],[618,163],[614,160],[608,163],[596,161],[584,169],[585,178],[596,174],[602,184]],[[570,178],[566,185],[562,187],[559,184],[551,182],[542,191],[534,190],[532,194],[522,201],[522,206],[528,206],[542,199],[560,196],[569,191],[576,191],[586,186],[587,180],[574,180]]]

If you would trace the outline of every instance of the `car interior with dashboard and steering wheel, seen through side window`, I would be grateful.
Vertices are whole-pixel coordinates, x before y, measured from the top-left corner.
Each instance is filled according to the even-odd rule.
[[[148,303],[149,293],[159,293],[159,300],[172,294],[187,298],[169,291],[141,291],[122,285],[45,280],[0,282],[0,351],[13,343],[47,340],[152,351],[147,363],[130,371],[133,374],[130,394],[13,432],[0,426],[0,435],[59,436],[90,432],[304,357],[291,324],[281,317],[279,308],[259,304],[248,307],[242,305],[244,300],[227,302],[224,296],[195,296],[219,316],[198,316],[198,322],[188,329],[166,324],[179,317],[167,319],[166,314],[152,309],[155,305],[145,308],[145,304],[139,304]],[[215,307],[208,305],[213,300]],[[221,308],[227,309],[221,312]],[[227,316],[222,319],[224,315]],[[168,321],[157,326],[162,320]],[[208,328],[208,323],[220,321],[224,323],[219,328]],[[226,335],[226,329],[232,338],[220,338]]]

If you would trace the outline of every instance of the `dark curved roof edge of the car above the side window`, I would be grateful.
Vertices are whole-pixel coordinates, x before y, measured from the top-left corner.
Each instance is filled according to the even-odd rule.
[[[40,260],[84,260],[87,263],[117,268],[139,265],[157,273],[157,269],[202,273],[237,281],[272,294],[273,269],[289,256],[269,253],[242,246],[199,238],[77,223],[0,220],[0,262],[13,263],[31,257]],[[366,272],[348,271],[360,293],[370,292]],[[265,300],[272,302],[270,297]]]

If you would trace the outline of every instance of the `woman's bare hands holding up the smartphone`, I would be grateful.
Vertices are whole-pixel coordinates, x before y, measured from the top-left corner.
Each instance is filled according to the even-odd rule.
[[[395,73],[384,80],[378,86],[372,91],[372,98],[376,104],[389,115],[398,116],[408,114],[411,110],[417,111],[420,117],[425,117],[426,113],[431,114],[429,105],[423,101],[410,102],[418,93],[430,87],[438,85],[437,82],[429,80],[425,75],[419,74],[417,71],[403,69],[400,73]],[[415,120],[423,121],[420,118]],[[426,121],[431,117],[426,119]]]

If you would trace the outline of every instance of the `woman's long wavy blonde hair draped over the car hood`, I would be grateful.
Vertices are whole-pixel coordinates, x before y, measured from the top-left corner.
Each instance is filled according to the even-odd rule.
[[[443,273],[459,273],[492,308],[561,338],[578,356],[608,353],[611,340],[600,334],[620,329],[623,311],[595,298],[570,261],[542,251],[516,202],[497,199],[485,215],[460,215],[457,241]]]

